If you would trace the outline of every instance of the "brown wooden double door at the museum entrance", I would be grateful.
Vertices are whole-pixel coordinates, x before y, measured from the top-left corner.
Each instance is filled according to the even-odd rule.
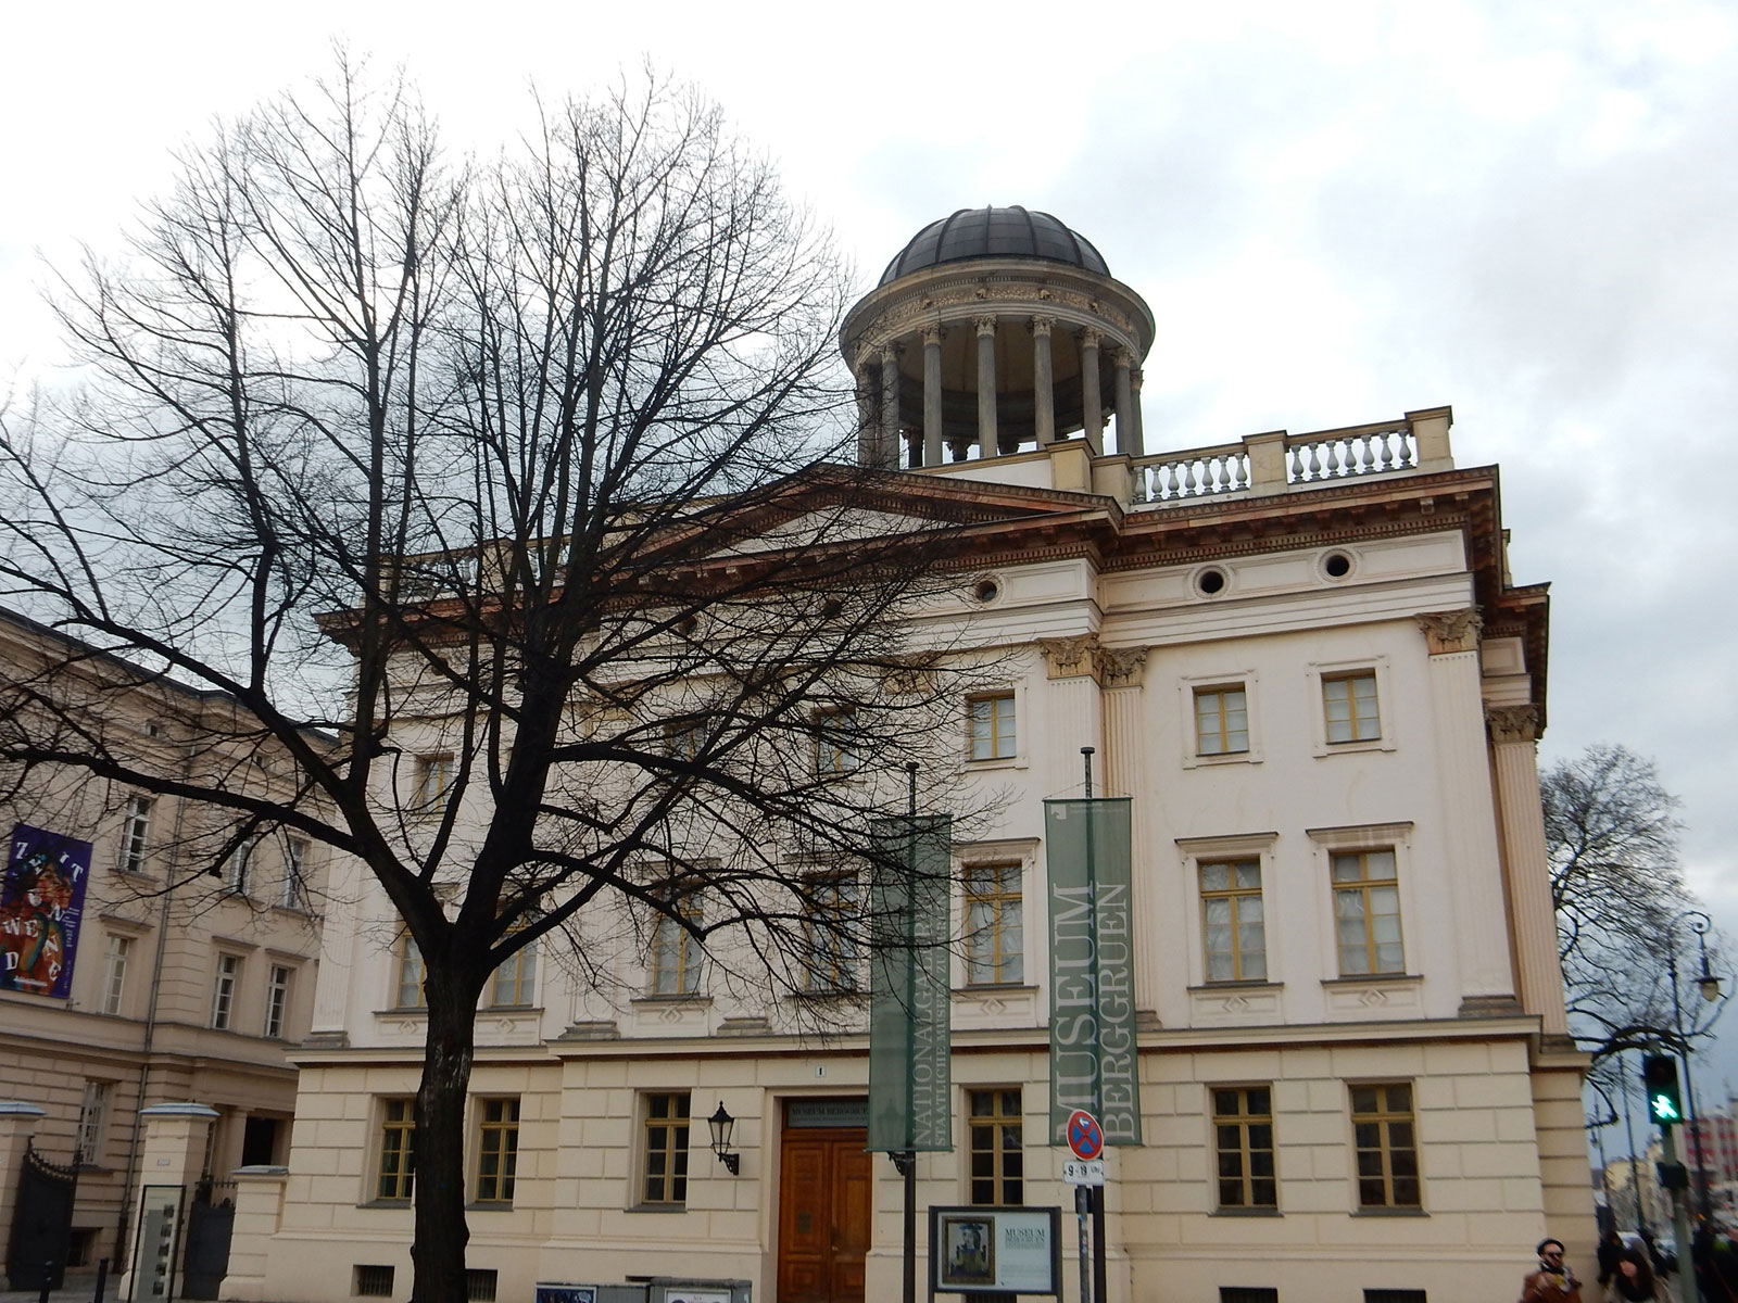
[[[779,1303],[862,1303],[869,1136],[787,1128],[779,1161]]]

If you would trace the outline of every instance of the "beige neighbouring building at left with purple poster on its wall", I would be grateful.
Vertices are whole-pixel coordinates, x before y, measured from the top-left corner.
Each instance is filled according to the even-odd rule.
[[[235,737],[228,697],[94,655],[9,612],[0,664],[10,686],[54,700],[118,764],[193,789],[287,790],[289,766]],[[216,1108],[191,1176],[289,1155],[295,1068],[285,1049],[313,1016],[325,853],[262,839],[238,876],[233,857],[219,863],[233,825],[198,799],[54,764],[7,778],[7,834],[26,825],[92,844],[68,994],[0,989],[0,1100],[16,1105],[7,1141],[61,1166],[76,1155],[71,1265],[94,1268],[122,1261],[132,1237],[141,1108]],[[0,1181],[7,1228],[12,1176]]]

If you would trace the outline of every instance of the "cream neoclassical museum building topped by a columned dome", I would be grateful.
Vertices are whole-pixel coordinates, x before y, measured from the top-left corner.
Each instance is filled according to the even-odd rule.
[[[959,608],[1001,674],[954,724],[958,773],[1003,799],[954,846],[954,1147],[918,1155],[919,1206],[1071,1206],[1041,803],[1091,747],[1133,818],[1142,1143],[1107,1157],[1109,1298],[1498,1298],[1547,1230],[1590,1277],[1549,608],[1510,579],[1496,467],[1456,466],[1448,408],[1147,452],[1152,337],[1091,243],[1022,208],[926,226],[843,328],[860,459],[912,514],[973,521]],[[408,1287],[417,959],[375,888],[335,890],[360,905],[325,931],[289,1162],[240,1178],[226,1298]],[[547,954],[485,995],[473,1296],[897,1291],[864,1030],[740,1008],[683,943],[612,962],[626,995]],[[1072,1239],[1062,1275],[1074,1296]]]

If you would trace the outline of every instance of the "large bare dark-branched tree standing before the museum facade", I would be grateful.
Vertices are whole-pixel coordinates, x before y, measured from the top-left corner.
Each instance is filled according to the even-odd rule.
[[[905,764],[952,768],[975,518],[829,460],[845,271],[688,90],[539,106],[466,163],[341,63],[181,162],[130,257],[63,281],[94,379],[0,438],[0,591],[229,693],[302,799],[66,730],[0,763],[367,865],[426,962],[414,1298],[459,1303],[492,971],[587,919],[681,928],[760,989],[815,982],[817,929],[862,942],[812,870],[869,844]]]

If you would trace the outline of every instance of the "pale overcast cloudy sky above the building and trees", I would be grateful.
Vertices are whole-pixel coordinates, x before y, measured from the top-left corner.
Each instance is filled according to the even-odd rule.
[[[494,148],[525,89],[700,83],[871,285],[925,222],[1022,203],[1152,306],[1152,450],[1455,408],[1552,584],[1543,759],[1622,742],[1738,936],[1738,7],[1731,3],[7,7],[0,375],[54,363],[42,259],[116,247],[179,141],[403,63]],[[252,17],[257,14],[257,17]],[[1719,452],[1719,448],[1726,452]],[[1738,1088],[1738,1015],[1702,1095]]]

